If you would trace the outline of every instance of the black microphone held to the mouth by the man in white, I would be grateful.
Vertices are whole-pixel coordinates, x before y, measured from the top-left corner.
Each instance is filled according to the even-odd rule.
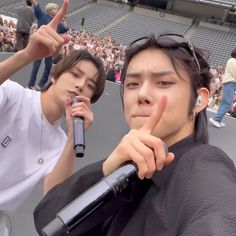
[[[80,102],[78,98],[72,98],[72,104]],[[84,140],[84,119],[74,117],[73,119],[73,134],[74,134],[74,150],[76,157],[84,156],[85,140]]]

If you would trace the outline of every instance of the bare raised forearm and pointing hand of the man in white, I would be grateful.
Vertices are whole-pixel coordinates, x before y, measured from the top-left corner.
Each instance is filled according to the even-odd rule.
[[[58,54],[63,44],[69,41],[68,37],[60,36],[56,32],[58,24],[65,16],[68,4],[69,0],[64,0],[63,6],[57,15],[48,25],[43,25],[32,35],[25,49],[0,62],[0,85],[29,63]]]

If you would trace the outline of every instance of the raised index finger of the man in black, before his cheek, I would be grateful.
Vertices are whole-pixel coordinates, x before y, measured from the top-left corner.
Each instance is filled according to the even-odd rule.
[[[162,114],[166,108],[166,105],[167,105],[167,96],[162,96],[158,108],[152,113],[152,115],[147,120],[147,122],[143,125],[141,130],[151,134],[153,132],[154,128],[159,123],[159,121],[162,117]]]

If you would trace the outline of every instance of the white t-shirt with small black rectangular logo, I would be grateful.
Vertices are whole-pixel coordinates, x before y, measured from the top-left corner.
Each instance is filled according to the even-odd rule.
[[[60,124],[42,115],[40,92],[0,86],[0,210],[14,211],[53,169],[66,143]]]

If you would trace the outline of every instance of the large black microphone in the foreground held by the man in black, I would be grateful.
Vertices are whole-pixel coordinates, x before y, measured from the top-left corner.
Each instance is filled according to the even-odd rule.
[[[134,178],[137,178],[136,173],[136,165],[129,162],[103,177],[97,184],[59,211],[56,218],[41,230],[42,235],[61,236],[70,233],[98,207],[121,193]]]

